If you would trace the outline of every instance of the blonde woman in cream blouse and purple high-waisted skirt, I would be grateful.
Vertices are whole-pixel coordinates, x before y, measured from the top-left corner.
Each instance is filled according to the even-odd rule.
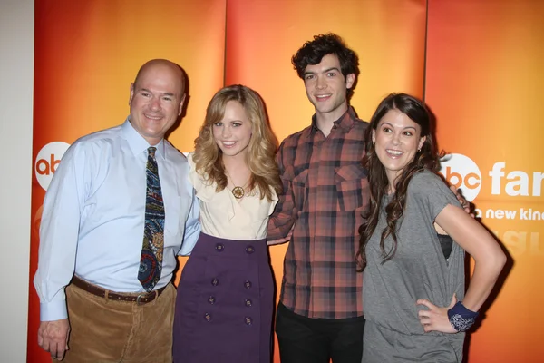
[[[202,233],[178,287],[176,362],[270,361],[266,237],[281,188],[276,149],[257,93],[232,85],[213,96],[188,158]]]

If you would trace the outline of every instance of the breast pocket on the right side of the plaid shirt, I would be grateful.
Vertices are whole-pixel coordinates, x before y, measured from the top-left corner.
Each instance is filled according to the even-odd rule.
[[[336,191],[340,211],[355,211],[364,206],[367,193],[367,172],[361,164],[349,164],[335,168]]]

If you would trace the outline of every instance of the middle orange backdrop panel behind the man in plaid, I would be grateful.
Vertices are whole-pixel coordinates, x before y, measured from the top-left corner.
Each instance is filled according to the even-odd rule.
[[[368,120],[387,93],[423,95],[424,3],[229,0],[226,83],[247,84],[263,96],[281,141],[305,128],[314,113],[291,56],[314,34],[334,32],[359,55],[361,74],[352,104]],[[277,289],[286,250],[287,244],[270,248]],[[275,353],[279,362],[277,341]]]

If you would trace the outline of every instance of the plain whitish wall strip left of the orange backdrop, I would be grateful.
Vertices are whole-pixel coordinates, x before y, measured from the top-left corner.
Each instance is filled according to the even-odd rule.
[[[0,361],[26,361],[34,0],[0,0]]]

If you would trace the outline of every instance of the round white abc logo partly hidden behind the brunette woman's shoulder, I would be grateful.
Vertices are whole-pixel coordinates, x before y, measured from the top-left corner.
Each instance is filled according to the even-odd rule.
[[[450,153],[441,159],[440,164],[440,173],[446,181],[461,189],[467,201],[474,201],[481,189],[481,172],[476,162],[461,153]]]

